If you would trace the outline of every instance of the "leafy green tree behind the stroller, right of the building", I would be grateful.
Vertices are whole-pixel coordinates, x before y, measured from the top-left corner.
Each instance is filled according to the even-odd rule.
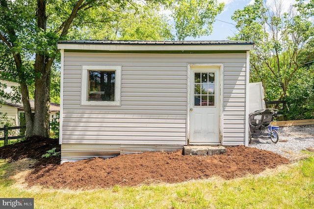
[[[313,11],[305,0],[299,0],[287,11],[285,1],[273,2],[270,6],[266,1],[255,0],[235,11],[232,19],[238,33],[232,39],[255,42],[250,81],[262,81],[268,99],[285,100],[289,86],[299,80],[296,76],[300,76],[305,63],[313,60],[313,54],[307,52],[311,51],[314,38]]]

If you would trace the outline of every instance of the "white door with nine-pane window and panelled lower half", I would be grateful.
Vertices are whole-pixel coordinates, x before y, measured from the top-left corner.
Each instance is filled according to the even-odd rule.
[[[220,143],[220,67],[191,66],[189,144]]]

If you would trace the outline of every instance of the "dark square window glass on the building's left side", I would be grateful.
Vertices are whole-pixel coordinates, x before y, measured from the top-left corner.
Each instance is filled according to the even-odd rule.
[[[87,101],[114,101],[115,71],[88,71]]]

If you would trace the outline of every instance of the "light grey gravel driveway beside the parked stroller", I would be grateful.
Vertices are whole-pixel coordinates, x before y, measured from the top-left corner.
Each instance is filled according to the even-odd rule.
[[[301,150],[314,148],[314,125],[279,127],[279,142],[274,144],[270,139],[252,139],[250,147],[278,153],[291,160],[304,154]]]

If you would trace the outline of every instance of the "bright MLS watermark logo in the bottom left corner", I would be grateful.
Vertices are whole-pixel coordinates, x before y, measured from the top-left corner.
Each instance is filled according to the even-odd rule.
[[[0,198],[1,209],[34,209],[34,198]]]

